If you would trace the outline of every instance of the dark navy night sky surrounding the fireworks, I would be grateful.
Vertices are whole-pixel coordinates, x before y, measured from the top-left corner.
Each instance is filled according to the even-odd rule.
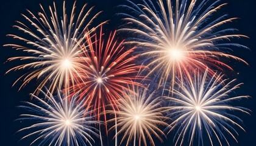
[[[139,1],[139,0],[133,0]],[[199,0],[200,1],[200,0]],[[104,27],[107,31],[112,31],[118,28],[121,24],[121,20],[117,19],[118,17],[115,16],[115,13],[118,10],[115,8],[119,4],[124,4],[124,0],[87,0],[87,1],[80,1],[77,2],[78,7],[82,7],[82,5],[88,2],[90,5],[96,5],[97,10],[103,10],[104,12],[99,16],[97,21],[105,21],[110,19],[109,23],[106,24]],[[246,133],[241,130],[238,130],[240,136],[237,136],[238,144],[235,142],[231,142],[232,145],[248,145],[248,146],[256,146],[256,50],[255,50],[255,43],[256,43],[256,21],[255,21],[255,7],[256,1],[255,0],[223,0],[222,2],[228,2],[229,4],[223,7],[218,13],[220,15],[224,15],[226,13],[229,14],[230,17],[238,17],[230,23],[230,27],[235,27],[239,30],[240,34],[249,36],[248,38],[241,38],[235,39],[236,43],[243,44],[249,47],[251,50],[246,49],[233,49],[232,54],[236,55],[237,57],[243,58],[249,63],[250,66],[246,66],[246,64],[239,63],[238,61],[232,60],[230,62],[230,66],[233,66],[235,73],[230,75],[230,78],[237,78],[238,82],[243,82],[244,85],[241,86],[236,94],[238,95],[248,95],[251,96],[251,99],[242,100],[238,102],[240,106],[245,108],[251,109],[252,113],[251,116],[246,114],[235,114],[236,116],[240,117],[244,121],[244,129]],[[21,31],[17,29],[13,29],[13,25],[15,25],[15,21],[26,21],[20,14],[26,13],[26,9],[29,9],[33,13],[37,13],[40,10],[39,4],[42,4],[45,9],[48,9],[49,5],[52,5],[53,1],[43,1],[43,0],[8,0],[8,1],[1,1],[0,2],[0,15],[1,15],[1,27],[0,27],[0,47],[1,47],[1,57],[0,57],[0,78],[1,78],[1,141],[0,145],[7,146],[7,145],[28,145],[29,143],[20,142],[20,134],[15,134],[21,126],[19,122],[15,122],[15,119],[18,118],[18,115],[21,114],[19,108],[16,106],[21,105],[21,101],[29,101],[29,93],[34,91],[35,88],[35,81],[29,83],[28,86],[18,91],[21,83],[12,87],[12,84],[15,80],[23,75],[26,71],[17,71],[17,72],[10,72],[9,74],[5,74],[8,69],[13,68],[17,61],[13,61],[11,63],[5,63],[7,58],[14,57],[20,55],[19,51],[11,49],[10,47],[2,47],[4,44],[9,43],[19,43],[20,41],[13,40],[6,35],[9,33],[23,35]],[[71,4],[71,5],[68,5]],[[67,0],[66,7],[72,7],[73,0]],[[62,1],[57,2],[57,7],[60,6],[62,9]],[[26,13],[27,14],[27,13]],[[169,141],[172,139],[165,140],[165,145],[171,145]],[[230,139],[230,141],[233,141]],[[161,145],[160,142],[156,142],[156,145]],[[163,144],[162,144],[163,145]]]

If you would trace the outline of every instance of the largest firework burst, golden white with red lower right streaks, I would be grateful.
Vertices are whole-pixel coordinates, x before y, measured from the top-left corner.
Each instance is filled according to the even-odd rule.
[[[210,1],[197,2],[192,0],[158,0],[144,1],[144,4],[121,5],[132,10],[132,14],[121,13],[126,24],[123,31],[132,32],[129,44],[141,47],[141,54],[146,57],[148,75],[157,74],[159,86],[166,82],[174,87],[176,77],[190,75],[190,72],[208,70],[214,74],[213,68],[232,69],[220,57],[241,60],[224,51],[230,47],[245,47],[236,43],[225,43],[230,38],[246,37],[233,34],[235,29],[221,27],[236,18],[226,19],[222,15],[216,19],[211,16],[223,5],[219,1],[210,4]],[[138,38],[134,35],[137,34]],[[245,61],[243,61],[246,63]]]

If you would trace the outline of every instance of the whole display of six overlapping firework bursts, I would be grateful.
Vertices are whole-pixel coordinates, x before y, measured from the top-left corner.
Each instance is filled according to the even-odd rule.
[[[123,18],[118,30],[105,29],[107,21],[98,19],[104,12],[89,5],[77,9],[76,2],[63,1],[62,7],[54,3],[49,10],[40,5],[38,15],[27,10],[28,16],[22,14],[26,21],[17,21],[14,27],[23,33],[7,35],[19,41],[4,46],[25,54],[7,60],[24,61],[6,72],[26,71],[13,85],[22,82],[22,89],[37,83],[30,98],[35,103],[20,106],[28,114],[17,120],[30,124],[18,130],[28,133],[21,141],[110,145],[115,139],[115,145],[127,146],[239,142],[240,131],[246,130],[236,113],[251,114],[239,105],[249,96],[237,96],[243,83],[234,85],[235,75],[224,73],[235,74],[230,61],[248,65],[230,53],[247,49],[232,41],[247,36],[226,27],[236,18],[218,15],[225,3],[128,0],[118,6],[124,10],[118,13]]]

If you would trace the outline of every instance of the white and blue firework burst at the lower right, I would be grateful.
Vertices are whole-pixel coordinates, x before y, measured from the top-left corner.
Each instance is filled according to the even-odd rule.
[[[235,139],[238,132],[235,127],[244,130],[238,122],[242,122],[233,112],[243,112],[249,114],[249,110],[240,106],[232,106],[230,102],[247,98],[248,96],[230,97],[236,88],[241,85],[232,86],[235,80],[227,82],[223,80],[223,75],[207,77],[195,75],[194,78],[185,78],[185,82],[177,82],[177,89],[174,89],[173,96],[167,97],[171,102],[170,116],[174,119],[172,130],[176,131],[175,145],[182,145],[186,139],[193,145],[196,137],[199,139],[197,145],[204,145],[204,137],[210,140],[210,144],[215,145],[213,139],[218,139],[220,145],[229,141],[225,134]],[[183,80],[183,81],[184,81]],[[205,134],[203,135],[203,133]],[[209,141],[208,141],[209,142]],[[236,141],[237,142],[237,141]],[[209,145],[210,145],[209,144]]]

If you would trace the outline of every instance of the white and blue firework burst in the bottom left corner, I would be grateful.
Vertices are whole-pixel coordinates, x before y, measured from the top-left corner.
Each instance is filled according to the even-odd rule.
[[[90,125],[96,125],[99,122],[93,120],[89,115],[90,112],[84,110],[82,102],[77,103],[77,96],[68,100],[60,91],[55,97],[49,91],[41,91],[41,93],[47,102],[32,95],[38,102],[36,105],[25,102],[26,105],[20,106],[32,114],[21,114],[22,117],[18,120],[36,122],[19,130],[19,132],[30,132],[22,139],[37,136],[30,145],[92,145],[93,136],[98,134]]]

